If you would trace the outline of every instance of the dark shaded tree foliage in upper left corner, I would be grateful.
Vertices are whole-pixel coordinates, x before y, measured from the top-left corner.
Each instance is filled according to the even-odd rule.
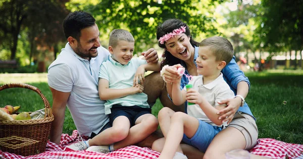
[[[31,44],[53,45],[62,40],[61,22],[68,14],[66,1],[7,0],[0,2],[0,47],[9,48],[15,59],[21,30],[27,29]],[[31,46],[33,48],[35,45]],[[32,50],[31,50],[32,51]]]

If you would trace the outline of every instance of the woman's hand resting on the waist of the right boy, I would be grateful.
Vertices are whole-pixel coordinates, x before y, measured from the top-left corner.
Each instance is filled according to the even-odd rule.
[[[222,123],[227,122],[227,124],[229,124],[235,113],[237,112],[237,110],[239,109],[239,107],[242,104],[242,99],[240,98],[231,98],[231,99],[225,99],[222,100],[220,102],[218,102],[219,104],[226,104],[227,107],[220,110],[217,114],[220,114],[219,116],[219,120],[222,120]]]

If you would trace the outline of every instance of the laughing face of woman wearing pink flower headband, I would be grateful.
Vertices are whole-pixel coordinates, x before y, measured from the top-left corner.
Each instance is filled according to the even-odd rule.
[[[173,56],[186,61],[194,54],[194,48],[189,42],[189,37],[182,33],[165,42],[166,50]]]

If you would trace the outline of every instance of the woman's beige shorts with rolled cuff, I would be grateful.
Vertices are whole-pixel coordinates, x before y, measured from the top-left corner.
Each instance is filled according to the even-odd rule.
[[[246,140],[246,150],[249,150],[256,145],[258,140],[258,128],[255,119],[249,114],[236,112],[233,120],[227,127],[234,127],[242,132]]]

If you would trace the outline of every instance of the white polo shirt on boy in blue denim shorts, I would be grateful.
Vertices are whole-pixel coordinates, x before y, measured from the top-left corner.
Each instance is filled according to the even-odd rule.
[[[224,81],[222,73],[220,73],[216,80],[207,85],[203,85],[203,75],[193,76],[192,81],[190,81],[188,84],[192,84],[192,89],[198,90],[198,92],[213,107],[219,105],[218,101],[234,97],[234,93],[229,88],[228,84]],[[186,87],[184,87],[183,90],[186,91]],[[205,121],[211,125],[216,125],[206,116],[206,114],[197,104],[187,105],[187,114],[197,118],[198,120]]]

